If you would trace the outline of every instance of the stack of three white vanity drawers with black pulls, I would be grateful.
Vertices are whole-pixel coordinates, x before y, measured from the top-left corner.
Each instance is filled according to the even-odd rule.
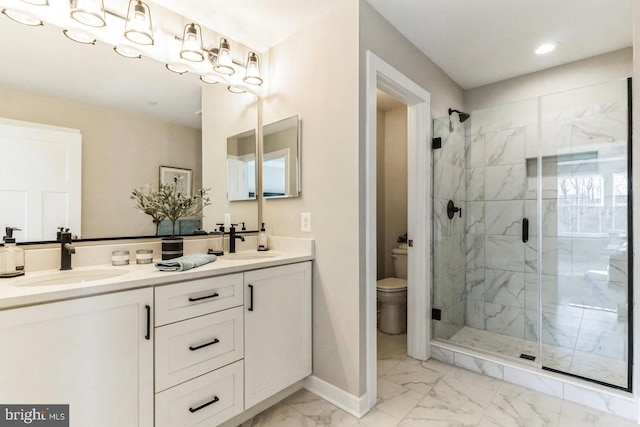
[[[242,283],[237,273],[156,287],[156,427],[243,411]]]

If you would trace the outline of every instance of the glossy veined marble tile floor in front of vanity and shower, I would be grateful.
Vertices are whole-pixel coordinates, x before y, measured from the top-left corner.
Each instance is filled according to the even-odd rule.
[[[388,337],[391,336],[383,336],[380,339]],[[395,362],[396,365],[379,378],[378,403],[362,419],[346,413],[307,390],[300,390],[242,426],[631,427],[636,425],[632,421],[608,413],[436,360],[421,362],[405,357],[404,360]]]

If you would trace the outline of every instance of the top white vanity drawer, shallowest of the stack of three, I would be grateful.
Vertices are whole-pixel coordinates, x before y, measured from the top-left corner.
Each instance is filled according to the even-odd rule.
[[[156,287],[156,326],[242,305],[242,273]]]

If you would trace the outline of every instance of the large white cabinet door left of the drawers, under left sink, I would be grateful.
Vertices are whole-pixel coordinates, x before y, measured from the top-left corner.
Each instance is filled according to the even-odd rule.
[[[69,404],[71,427],[152,426],[152,301],[141,289],[1,311],[0,402]]]

